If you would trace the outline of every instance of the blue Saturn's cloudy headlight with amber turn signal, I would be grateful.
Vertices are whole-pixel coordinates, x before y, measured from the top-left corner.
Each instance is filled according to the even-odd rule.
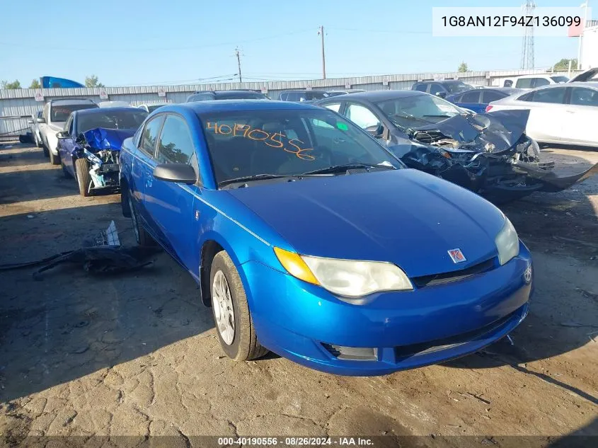
[[[362,297],[372,292],[413,289],[405,272],[392,263],[311,257],[280,248],[274,251],[289,274],[340,296]]]

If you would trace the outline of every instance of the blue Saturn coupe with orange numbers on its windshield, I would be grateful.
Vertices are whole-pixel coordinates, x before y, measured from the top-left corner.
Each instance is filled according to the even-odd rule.
[[[200,285],[226,355],[389,374],[504,337],[531,257],[502,212],[301,103],[168,105],[123,143],[122,211]]]

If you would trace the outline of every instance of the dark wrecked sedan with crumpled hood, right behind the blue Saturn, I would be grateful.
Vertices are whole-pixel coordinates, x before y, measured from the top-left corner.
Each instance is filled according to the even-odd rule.
[[[450,180],[493,202],[534,191],[556,192],[598,172],[598,164],[557,176],[527,137],[528,110],[476,114],[418,91],[372,91],[318,105],[345,115],[379,139],[409,168]]]

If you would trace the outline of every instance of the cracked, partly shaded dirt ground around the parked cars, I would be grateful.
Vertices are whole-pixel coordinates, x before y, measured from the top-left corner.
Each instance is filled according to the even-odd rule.
[[[563,148],[544,156],[561,171],[598,161]],[[119,200],[80,197],[40,149],[0,146],[0,264],[79,248],[110,220],[132,245]],[[273,355],[232,362],[195,283],[163,253],[120,276],[0,272],[0,447],[47,442],[27,435],[174,435],[181,447],[206,446],[198,435],[386,435],[375,446],[402,447],[598,436],[598,176],[503,209],[535,263],[515,345],[387,377],[335,377]]]

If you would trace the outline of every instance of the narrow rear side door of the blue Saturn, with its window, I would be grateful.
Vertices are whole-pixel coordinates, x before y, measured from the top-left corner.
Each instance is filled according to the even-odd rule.
[[[162,242],[163,236],[159,234],[158,226],[151,219],[148,212],[147,206],[151,202],[151,197],[146,196],[146,191],[151,190],[151,184],[154,182],[154,168],[156,166],[154,157],[164,118],[165,115],[160,114],[145,122],[132,164],[132,181],[134,185],[131,185],[132,191],[135,192],[134,201],[137,207],[137,215],[151,236],[159,243]]]

